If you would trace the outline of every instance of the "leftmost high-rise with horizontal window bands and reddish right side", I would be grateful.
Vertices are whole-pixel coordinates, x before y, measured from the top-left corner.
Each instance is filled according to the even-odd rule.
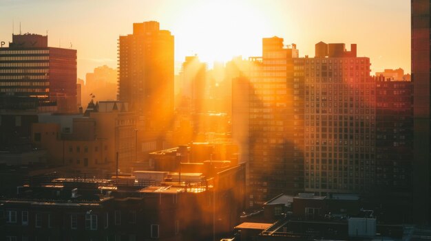
[[[76,113],[76,50],[48,47],[48,36],[12,34],[0,48],[0,95],[37,98],[39,111]]]

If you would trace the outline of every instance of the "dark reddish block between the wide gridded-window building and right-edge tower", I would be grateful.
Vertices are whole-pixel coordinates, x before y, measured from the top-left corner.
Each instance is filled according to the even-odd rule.
[[[410,221],[413,161],[412,82],[376,76],[376,176],[372,199]],[[402,208],[400,208],[402,207]]]

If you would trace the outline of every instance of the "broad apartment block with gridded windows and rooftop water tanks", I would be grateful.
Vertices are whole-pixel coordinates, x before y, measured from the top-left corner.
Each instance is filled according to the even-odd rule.
[[[306,192],[365,193],[375,181],[375,84],[356,45],[316,45],[316,58],[295,60],[304,75]]]

